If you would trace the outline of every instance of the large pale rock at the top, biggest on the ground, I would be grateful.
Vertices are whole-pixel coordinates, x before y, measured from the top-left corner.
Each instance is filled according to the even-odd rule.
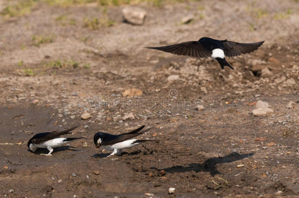
[[[147,16],[147,12],[138,7],[125,7],[122,12],[125,22],[134,25],[142,25]]]

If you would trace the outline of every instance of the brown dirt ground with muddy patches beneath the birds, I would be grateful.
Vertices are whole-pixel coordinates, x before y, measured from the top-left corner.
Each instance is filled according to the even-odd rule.
[[[298,0],[139,3],[142,26],[123,4],[4,12],[18,2],[0,2],[0,197],[299,197]],[[265,43],[226,58],[235,70],[144,48],[201,37]],[[258,100],[274,112],[254,116]],[[28,151],[34,134],[78,124],[68,137],[85,138],[52,156]],[[108,158],[94,146],[96,132],[141,125],[156,141]]]

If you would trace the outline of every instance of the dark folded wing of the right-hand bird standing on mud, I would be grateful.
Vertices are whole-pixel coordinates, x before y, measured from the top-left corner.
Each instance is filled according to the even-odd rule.
[[[143,128],[143,127],[142,127]],[[140,128],[139,128],[140,129]],[[137,129],[138,130],[138,129]],[[140,129],[141,130],[141,129]],[[139,131],[140,131],[139,130]],[[131,132],[128,132],[128,133],[123,133],[123,134],[120,134],[120,135],[112,135],[112,134],[108,134],[106,133],[105,134],[105,140],[101,142],[101,145],[103,146],[107,146],[107,145],[113,145],[113,144],[116,144],[118,142],[123,142],[125,140],[128,140],[128,139],[131,139],[133,137],[136,137],[144,132],[148,132],[149,130],[151,130],[151,128],[147,129],[147,130],[144,130],[143,132],[135,132],[135,133],[131,133]],[[134,130],[135,131],[135,130]]]

